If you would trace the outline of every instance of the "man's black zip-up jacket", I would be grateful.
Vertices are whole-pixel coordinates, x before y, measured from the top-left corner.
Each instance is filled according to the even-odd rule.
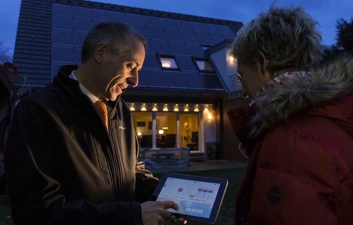
[[[109,132],[63,66],[53,83],[21,100],[5,152],[15,224],[142,225],[158,180],[138,162],[131,112],[110,102]]]

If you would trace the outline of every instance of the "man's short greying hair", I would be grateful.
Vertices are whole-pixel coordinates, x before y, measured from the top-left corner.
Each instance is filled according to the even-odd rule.
[[[84,39],[81,49],[81,63],[85,63],[93,55],[99,44],[104,43],[113,54],[119,54],[128,49],[131,38],[136,38],[144,48],[147,48],[144,37],[127,24],[100,22],[87,33]]]

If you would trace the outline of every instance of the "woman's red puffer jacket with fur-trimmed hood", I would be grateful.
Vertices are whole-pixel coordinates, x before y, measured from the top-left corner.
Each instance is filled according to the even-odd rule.
[[[343,63],[228,112],[250,156],[235,225],[353,225],[353,61]]]

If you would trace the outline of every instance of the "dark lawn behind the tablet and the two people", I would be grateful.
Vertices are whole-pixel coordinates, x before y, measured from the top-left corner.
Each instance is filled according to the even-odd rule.
[[[178,172],[176,172],[178,173]],[[232,225],[235,212],[235,199],[238,193],[241,181],[245,176],[245,168],[236,169],[220,169],[220,170],[205,170],[205,171],[190,171],[179,172],[180,174],[188,174],[201,177],[217,177],[228,180],[228,188],[223,199],[220,214],[216,225]],[[161,177],[162,174],[154,174],[155,177]],[[0,225],[14,225],[11,219],[10,200],[7,195],[0,195]],[[171,225],[166,222],[165,225]],[[188,221],[187,225],[201,225]]]

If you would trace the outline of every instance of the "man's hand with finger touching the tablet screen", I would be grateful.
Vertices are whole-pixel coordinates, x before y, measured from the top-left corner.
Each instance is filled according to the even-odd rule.
[[[144,202],[141,204],[142,221],[144,225],[163,225],[166,220],[170,218],[170,221],[175,224],[186,224],[186,220],[175,216],[171,216],[171,213],[166,209],[178,210],[179,207],[173,201],[157,201],[157,202]]]

